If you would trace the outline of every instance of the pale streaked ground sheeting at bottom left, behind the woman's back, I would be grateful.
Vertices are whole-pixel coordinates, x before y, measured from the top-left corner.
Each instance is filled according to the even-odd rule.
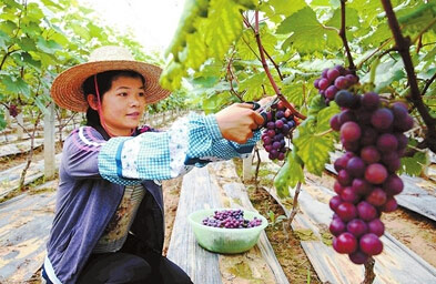
[[[42,186],[55,189],[57,182]],[[0,204],[0,283],[24,283],[42,265],[55,192],[22,194]]]

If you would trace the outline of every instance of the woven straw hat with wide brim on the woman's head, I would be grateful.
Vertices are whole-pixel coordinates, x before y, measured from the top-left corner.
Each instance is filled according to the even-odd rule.
[[[145,79],[145,98],[149,104],[171,93],[159,85],[161,68],[135,61],[126,49],[111,45],[95,49],[87,63],[74,65],[60,73],[51,85],[51,97],[61,108],[85,112],[88,102],[83,95],[83,82],[93,74],[111,70],[132,70],[142,74]]]

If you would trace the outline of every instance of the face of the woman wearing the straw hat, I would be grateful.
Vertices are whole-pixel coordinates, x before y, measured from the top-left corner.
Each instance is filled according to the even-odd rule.
[[[104,93],[102,113],[109,132],[129,136],[135,129],[145,108],[144,85],[140,78],[119,77]]]

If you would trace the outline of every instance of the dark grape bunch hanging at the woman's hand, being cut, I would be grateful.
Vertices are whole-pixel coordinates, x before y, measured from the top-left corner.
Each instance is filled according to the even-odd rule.
[[[263,146],[268,152],[270,160],[283,161],[286,153],[285,138],[296,126],[296,121],[290,109],[280,101],[266,112],[265,130],[262,133]]]

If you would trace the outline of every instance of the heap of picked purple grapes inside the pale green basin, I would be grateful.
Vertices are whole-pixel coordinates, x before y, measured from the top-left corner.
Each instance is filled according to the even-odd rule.
[[[205,217],[203,225],[226,229],[244,229],[254,227],[262,224],[262,220],[254,217],[253,220],[244,219],[243,210],[222,210],[215,211],[213,216]]]

